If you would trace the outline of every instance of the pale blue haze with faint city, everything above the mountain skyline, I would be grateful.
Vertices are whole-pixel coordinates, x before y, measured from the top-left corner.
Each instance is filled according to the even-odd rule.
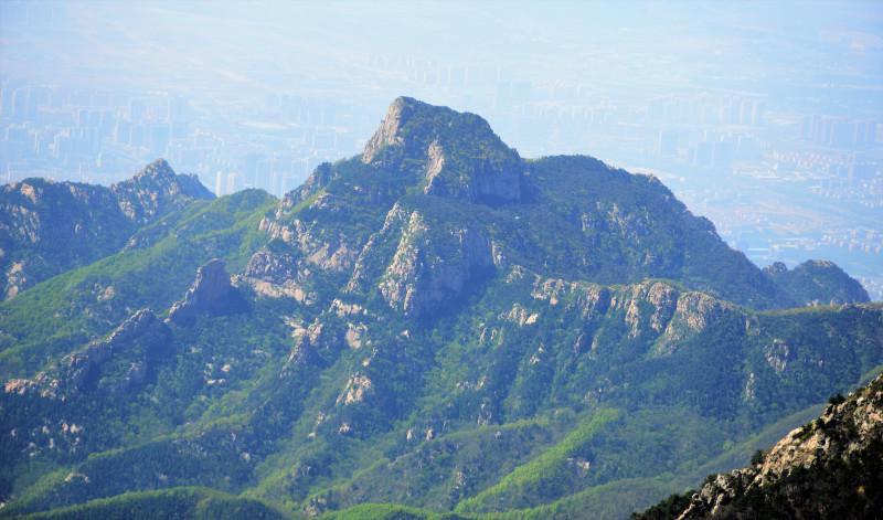
[[[281,194],[398,95],[652,172],[760,265],[883,295],[880,2],[0,2],[0,176],[163,156]]]

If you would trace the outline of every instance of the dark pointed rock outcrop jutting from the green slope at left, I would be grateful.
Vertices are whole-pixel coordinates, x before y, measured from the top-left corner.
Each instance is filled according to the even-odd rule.
[[[225,315],[247,308],[245,299],[230,283],[224,261],[214,258],[196,272],[196,279],[183,299],[172,305],[168,320],[190,325],[199,315]]]

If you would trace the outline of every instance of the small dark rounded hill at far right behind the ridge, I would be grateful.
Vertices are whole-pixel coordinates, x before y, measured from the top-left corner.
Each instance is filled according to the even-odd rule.
[[[764,269],[795,305],[842,305],[870,301],[862,285],[828,261],[807,261],[791,270],[781,262]]]

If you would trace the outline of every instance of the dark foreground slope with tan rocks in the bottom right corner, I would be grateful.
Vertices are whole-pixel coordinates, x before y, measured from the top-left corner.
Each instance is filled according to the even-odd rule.
[[[788,433],[752,466],[711,475],[634,518],[876,518],[883,510],[883,376]]]

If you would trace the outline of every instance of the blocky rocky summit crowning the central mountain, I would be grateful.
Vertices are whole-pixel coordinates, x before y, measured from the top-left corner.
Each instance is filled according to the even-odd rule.
[[[404,159],[424,162],[427,194],[474,202],[513,202],[522,197],[521,158],[475,114],[409,97],[395,99],[365,146],[362,161],[389,167]]]

